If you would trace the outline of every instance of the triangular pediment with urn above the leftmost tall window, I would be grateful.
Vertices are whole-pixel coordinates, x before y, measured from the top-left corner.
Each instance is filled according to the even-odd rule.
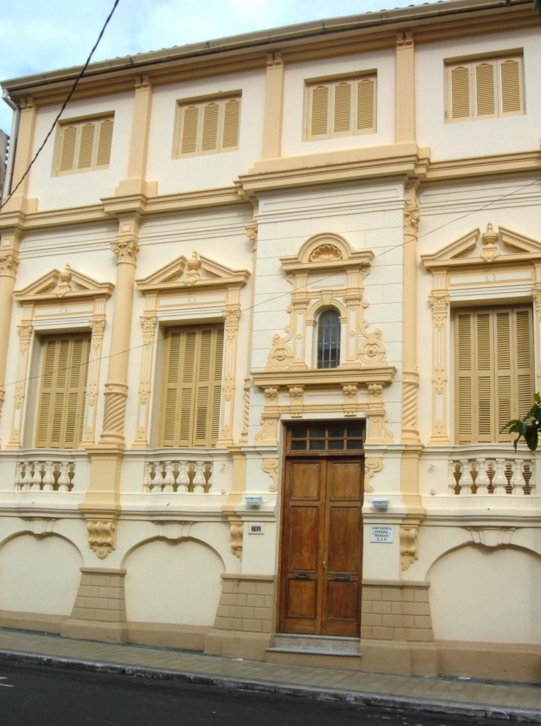
[[[15,300],[22,303],[51,301],[58,298],[83,299],[110,297],[114,285],[110,282],[97,282],[82,272],[71,269],[69,265],[62,271],[53,269],[30,282],[23,290],[15,292]]]

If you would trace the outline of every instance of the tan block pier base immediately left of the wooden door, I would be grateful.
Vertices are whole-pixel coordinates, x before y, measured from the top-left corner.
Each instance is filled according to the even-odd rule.
[[[274,629],[274,575],[223,574],[205,653],[263,660]]]

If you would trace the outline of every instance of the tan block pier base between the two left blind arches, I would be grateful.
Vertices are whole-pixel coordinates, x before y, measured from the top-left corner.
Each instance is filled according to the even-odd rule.
[[[61,635],[125,643],[125,575],[126,570],[81,567],[77,597]]]

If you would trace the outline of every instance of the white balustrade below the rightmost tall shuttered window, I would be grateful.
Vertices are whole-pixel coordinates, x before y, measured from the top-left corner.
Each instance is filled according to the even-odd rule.
[[[468,456],[449,461],[449,493],[460,496],[506,494],[524,497],[534,494],[533,458]]]

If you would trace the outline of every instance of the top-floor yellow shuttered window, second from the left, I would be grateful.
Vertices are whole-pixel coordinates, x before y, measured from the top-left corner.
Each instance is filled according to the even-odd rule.
[[[179,102],[176,156],[235,151],[239,125],[240,94]]]

